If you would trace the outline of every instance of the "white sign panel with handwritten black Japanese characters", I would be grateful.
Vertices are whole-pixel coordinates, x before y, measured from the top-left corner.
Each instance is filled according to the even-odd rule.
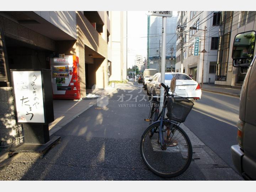
[[[13,71],[18,122],[44,123],[41,71]]]

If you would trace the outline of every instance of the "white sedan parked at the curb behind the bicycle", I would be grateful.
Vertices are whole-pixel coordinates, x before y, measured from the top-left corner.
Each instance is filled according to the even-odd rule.
[[[167,72],[165,73],[165,84],[170,86],[171,79],[176,78],[175,93],[178,96],[190,100],[201,99],[202,90],[196,81],[185,73]],[[147,84],[147,94],[160,95],[161,73],[156,73]]]

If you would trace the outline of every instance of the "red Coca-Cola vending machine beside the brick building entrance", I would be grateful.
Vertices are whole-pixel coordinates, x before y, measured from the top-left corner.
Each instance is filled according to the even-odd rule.
[[[50,59],[53,99],[80,99],[79,60],[75,55]]]

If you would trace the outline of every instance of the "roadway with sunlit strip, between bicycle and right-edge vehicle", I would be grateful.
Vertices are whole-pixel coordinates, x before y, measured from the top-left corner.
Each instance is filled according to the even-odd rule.
[[[237,144],[238,118],[239,98],[202,91],[184,124],[235,170],[230,147]]]

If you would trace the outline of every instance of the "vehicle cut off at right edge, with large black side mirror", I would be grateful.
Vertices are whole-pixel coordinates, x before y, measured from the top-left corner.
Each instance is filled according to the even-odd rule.
[[[233,66],[246,76],[241,89],[237,141],[231,146],[235,168],[245,180],[256,180],[256,57],[255,31],[237,34],[233,45]]]

